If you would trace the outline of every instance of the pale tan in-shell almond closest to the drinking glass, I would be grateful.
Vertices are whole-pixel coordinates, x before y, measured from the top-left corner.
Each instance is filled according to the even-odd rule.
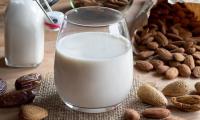
[[[140,86],[137,91],[137,95],[142,102],[150,105],[165,106],[168,104],[168,101],[163,93],[148,84]]]

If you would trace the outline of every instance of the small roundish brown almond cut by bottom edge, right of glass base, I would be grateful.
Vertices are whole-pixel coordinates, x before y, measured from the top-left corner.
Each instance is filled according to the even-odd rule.
[[[134,109],[126,109],[124,118],[125,120],[140,120],[140,114]]]

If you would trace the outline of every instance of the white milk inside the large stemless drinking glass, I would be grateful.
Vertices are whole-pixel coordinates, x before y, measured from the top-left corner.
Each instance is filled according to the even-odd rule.
[[[84,32],[58,40],[55,83],[65,103],[86,108],[119,104],[132,80],[132,49],[127,39]]]

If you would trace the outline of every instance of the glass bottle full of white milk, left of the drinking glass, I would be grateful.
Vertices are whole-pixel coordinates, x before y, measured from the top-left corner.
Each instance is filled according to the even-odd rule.
[[[5,15],[5,63],[35,67],[44,56],[44,16],[33,0],[10,0]]]

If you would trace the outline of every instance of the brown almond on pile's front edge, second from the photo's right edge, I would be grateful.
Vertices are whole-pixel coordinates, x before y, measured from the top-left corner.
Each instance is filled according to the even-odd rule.
[[[187,66],[186,64],[179,65],[178,70],[179,70],[179,74],[182,77],[190,77],[190,75],[192,73],[190,67]]]

